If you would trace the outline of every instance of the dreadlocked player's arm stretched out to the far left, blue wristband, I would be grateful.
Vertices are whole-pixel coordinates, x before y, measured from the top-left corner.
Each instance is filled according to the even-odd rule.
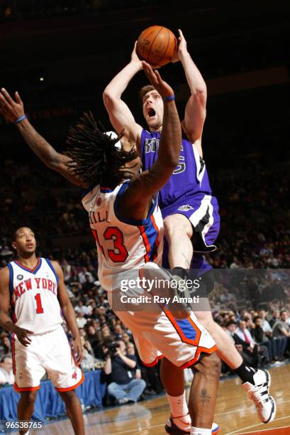
[[[43,136],[40,136],[34,127],[26,118],[23,102],[18,92],[15,93],[15,100],[9,95],[3,87],[0,92],[0,114],[2,114],[9,122],[13,122],[20,131],[23,139],[26,141],[30,149],[45,163],[46,166],[59,172],[73,184],[87,188],[89,183],[84,183],[79,178],[69,171],[66,163],[70,161],[69,157],[60,154],[46,141]]]

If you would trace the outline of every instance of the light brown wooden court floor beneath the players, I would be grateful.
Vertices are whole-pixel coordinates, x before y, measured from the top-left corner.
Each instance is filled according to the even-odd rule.
[[[261,423],[238,378],[223,380],[215,417],[221,425],[221,434],[290,435],[290,365],[274,367],[270,372],[271,393],[277,402],[276,419],[271,424]],[[87,435],[165,434],[164,422],[168,417],[169,406],[164,396],[84,415]],[[73,432],[69,421],[62,420],[46,425],[42,434]]]

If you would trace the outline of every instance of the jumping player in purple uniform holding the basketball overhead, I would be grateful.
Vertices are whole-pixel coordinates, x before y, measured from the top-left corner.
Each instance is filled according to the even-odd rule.
[[[188,140],[182,140],[179,164],[168,183],[160,190],[158,201],[164,218],[164,233],[169,246],[168,259],[172,273],[184,278],[186,269],[199,269],[201,283],[209,294],[214,285],[209,270],[211,268],[201,255],[193,257],[194,251],[204,253],[216,249],[213,243],[218,236],[220,221],[218,203],[211,195],[201,148],[207,91],[206,83],[187,51],[186,40],[180,30],[178,52],[172,61],[178,60],[182,63],[191,91],[182,121],[182,129]],[[116,131],[124,131],[130,140],[138,144],[143,168],[147,170],[157,158],[163,122],[162,98],[152,86],[143,87],[140,92],[148,130],[135,122],[133,114],[121,98],[130,80],[140,70],[142,63],[136,54],[135,43],[130,63],[104,90],[104,104]],[[255,370],[243,362],[228,335],[213,321],[211,311],[199,311],[196,316],[216,340],[218,356],[240,376],[243,387],[256,404],[261,421],[272,421],[276,407],[274,399],[269,396],[269,372]]]

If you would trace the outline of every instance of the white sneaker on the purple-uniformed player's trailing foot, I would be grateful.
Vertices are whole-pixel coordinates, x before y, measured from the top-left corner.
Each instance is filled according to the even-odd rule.
[[[242,384],[248,397],[255,402],[257,413],[263,423],[270,423],[276,415],[276,403],[269,395],[271,376],[267,370],[257,370],[254,375],[255,385],[250,382]]]

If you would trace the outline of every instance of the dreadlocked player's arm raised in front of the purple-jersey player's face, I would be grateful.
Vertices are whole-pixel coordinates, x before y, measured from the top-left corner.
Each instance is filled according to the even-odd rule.
[[[135,176],[123,197],[122,208],[135,219],[143,219],[152,195],[157,193],[169,180],[177,166],[182,146],[182,128],[172,87],[164,82],[157,70],[153,71],[148,63],[143,68],[164,100],[164,117],[158,157],[149,171]]]

